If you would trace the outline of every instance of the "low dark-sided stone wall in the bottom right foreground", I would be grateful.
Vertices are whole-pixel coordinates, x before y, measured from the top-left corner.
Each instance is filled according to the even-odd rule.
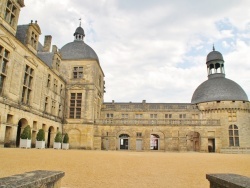
[[[250,188],[250,178],[238,174],[207,174],[210,188]]]

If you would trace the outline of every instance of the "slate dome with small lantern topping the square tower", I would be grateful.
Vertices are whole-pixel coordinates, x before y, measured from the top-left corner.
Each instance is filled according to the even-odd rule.
[[[62,59],[67,60],[79,60],[79,59],[90,59],[97,60],[99,62],[98,56],[95,51],[84,42],[84,30],[81,25],[76,28],[74,33],[75,40],[64,45],[60,49],[60,54]]]

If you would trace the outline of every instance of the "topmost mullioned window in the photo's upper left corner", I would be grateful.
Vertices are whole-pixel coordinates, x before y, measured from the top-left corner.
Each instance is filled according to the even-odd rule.
[[[15,26],[16,14],[17,14],[17,7],[14,5],[14,3],[12,3],[11,0],[8,0],[7,5],[6,5],[4,19],[12,27]]]

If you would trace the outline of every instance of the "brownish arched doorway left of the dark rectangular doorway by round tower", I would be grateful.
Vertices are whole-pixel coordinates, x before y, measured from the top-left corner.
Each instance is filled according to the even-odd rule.
[[[192,131],[187,135],[187,150],[200,151],[200,133]]]

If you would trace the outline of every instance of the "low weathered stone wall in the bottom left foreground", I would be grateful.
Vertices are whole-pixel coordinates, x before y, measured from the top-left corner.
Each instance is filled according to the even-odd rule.
[[[0,188],[60,188],[64,176],[61,171],[37,170],[0,178]]]

